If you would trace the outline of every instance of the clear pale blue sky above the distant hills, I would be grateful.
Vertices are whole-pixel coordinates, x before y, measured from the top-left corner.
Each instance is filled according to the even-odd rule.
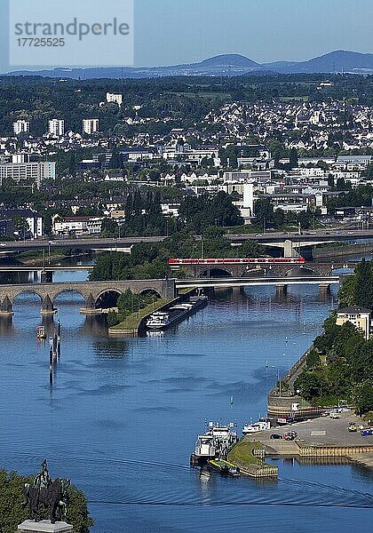
[[[45,10],[56,1],[45,0]],[[9,69],[7,2],[0,0],[3,72]],[[91,6],[110,0],[76,2]],[[308,60],[333,50],[373,53],[373,0],[134,0],[134,4],[136,66],[191,63],[221,53],[241,53],[258,62]]]

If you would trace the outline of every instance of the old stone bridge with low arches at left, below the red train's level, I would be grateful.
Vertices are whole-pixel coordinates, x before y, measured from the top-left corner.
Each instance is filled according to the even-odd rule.
[[[13,313],[14,298],[23,293],[36,294],[42,304],[42,314],[54,314],[54,301],[65,292],[80,294],[85,301],[82,312],[95,314],[99,298],[106,293],[122,294],[127,289],[141,294],[153,291],[161,298],[174,298],[176,295],[175,280],[128,280],[125,282],[62,282],[0,285],[0,315],[10,316]]]

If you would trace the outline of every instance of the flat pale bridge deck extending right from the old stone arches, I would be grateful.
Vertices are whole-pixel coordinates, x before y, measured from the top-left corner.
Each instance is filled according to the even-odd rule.
[[[338,285],[338,275],[309,275],[309,276],[276,276],[276,277],[250,277],[250,278],[189,278],[176,280],[176,288],[195,287],[249,287],[249,286],[274,286],[274,285]]]

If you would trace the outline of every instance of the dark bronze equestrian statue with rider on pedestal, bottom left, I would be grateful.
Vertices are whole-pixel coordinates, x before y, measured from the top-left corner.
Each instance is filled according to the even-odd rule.
[[[52,524],[66,519],[70,480],[52,480],[46,459],[43,461],[41,472],[36,474],[34,483],[25,483],[23,507],[28,505],[30,519],[40,521],[39,510],[43,504],[49,511],[49,520]]]

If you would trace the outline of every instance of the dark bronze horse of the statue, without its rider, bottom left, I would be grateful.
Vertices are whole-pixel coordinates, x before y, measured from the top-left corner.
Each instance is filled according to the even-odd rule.
[[[62,509],[66,512],[67,489],[70,480],[57,479],[51,481],[47,488],[36,488],[28,483],[24,487],[25,501],[23,507],[28,505],[31,520],[39,521],[39,506],[43,504],[49,511],[52,524],[62,518]]]

